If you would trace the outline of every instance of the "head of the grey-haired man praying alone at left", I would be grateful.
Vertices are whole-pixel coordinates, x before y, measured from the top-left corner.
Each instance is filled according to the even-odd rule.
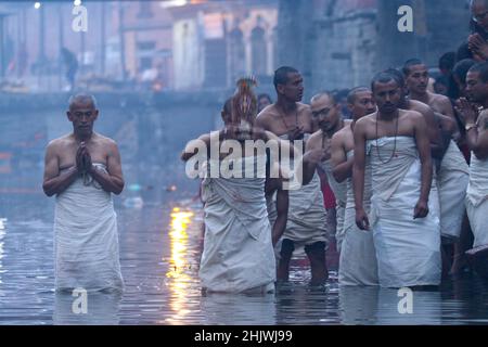
[[[81,137],[89,137],[93,132],[93,124],[99,116],[97,100],[91,94],[76,94],[69,98],[69,108],[66,112],[73,123],[73,130]]]

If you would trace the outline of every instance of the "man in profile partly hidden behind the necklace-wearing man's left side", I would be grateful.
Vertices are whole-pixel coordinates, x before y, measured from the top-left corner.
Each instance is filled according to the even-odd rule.
[[[356,121],[376,111],[371,90],[365,87],[354,88],[347,98],[352,123],[332,137],[331,156],[333,175],[337,182],[347,180],[347,197],[344,216],[344,241],[339,257],[338,282],[341,285],[377,285],[377,265],[373,235],[358,229],[355,220],[352,190],[354,128]],[[371,197],[371,175],[365,166],[364,208],[369,211]]]

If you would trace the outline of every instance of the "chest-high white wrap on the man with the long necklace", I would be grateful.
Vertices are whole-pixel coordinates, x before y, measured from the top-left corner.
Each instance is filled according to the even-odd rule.
[[[429,202],[425,218],[413,219],[421,192],[421,163],[410,137],[368,141],[372,167],[371,227],[380,285],[402,287],[440,283],[439,216]],[[378,157],[381,155],[381,158]],[[432,207],[431,207],[432,206]]]

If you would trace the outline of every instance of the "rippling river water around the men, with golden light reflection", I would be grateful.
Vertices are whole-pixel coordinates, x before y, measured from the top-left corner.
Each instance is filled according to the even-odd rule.
[[[401,314],[397,291],[339,287],[334,271],[326,285],[309,286],[305,256],[274,295],[202,296],[203,211],[181,196],[144,198],[137,209],[117,205],[126,291],[121,297],[89,293],[87,314],[76,314],[76,297],[53,290],[53,205],[44,197],[9,200],[15,203],[0,204],[8,217],[0,221],[0,324],[488,323],[488,284],[476,275],[449,280],[438,292],[413,292],[413,313]]]

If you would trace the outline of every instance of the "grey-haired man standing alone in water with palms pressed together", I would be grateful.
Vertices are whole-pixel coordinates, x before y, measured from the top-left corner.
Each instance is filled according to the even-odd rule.
[[[56,290],[124,287],[112,201],[112,193],[124,189],[120,154],[113,140],[93,131],[98,115],[92,95],[72,97],[73,133],[47,147],[42,188],[48,196],[56,195]]]

